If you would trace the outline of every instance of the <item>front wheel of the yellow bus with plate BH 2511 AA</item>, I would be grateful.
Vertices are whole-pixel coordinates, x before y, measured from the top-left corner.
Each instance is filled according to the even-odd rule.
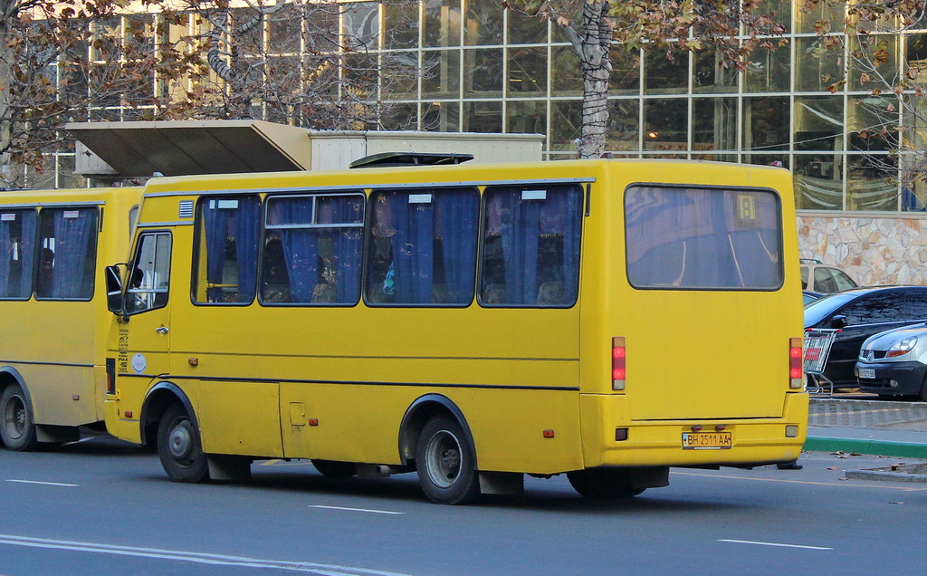
[[[158,457],[171,480],[197,483],[210,479],[197,425],[179,403],[172,404],[161,416]]]

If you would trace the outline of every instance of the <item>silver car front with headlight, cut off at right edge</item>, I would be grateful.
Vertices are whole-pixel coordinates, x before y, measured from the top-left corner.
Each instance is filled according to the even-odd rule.
[[[880,332],[863,342],[854,367],[859,391],[927,402],[927,325]]]

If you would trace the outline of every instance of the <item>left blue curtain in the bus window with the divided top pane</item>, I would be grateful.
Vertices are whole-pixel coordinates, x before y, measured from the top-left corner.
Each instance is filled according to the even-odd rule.
[[[310,224],[312,222],[312,198],[286,198],[278,200],[279,222],[287,224]],[[283,243],[286,271],[290,279],[290,301],[311,302],[312,289],[319,281],[319,241],[311,230],[283,229],[280,231]]]

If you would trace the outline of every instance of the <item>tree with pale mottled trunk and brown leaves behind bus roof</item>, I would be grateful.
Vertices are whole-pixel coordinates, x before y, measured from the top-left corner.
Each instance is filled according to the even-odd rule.
[[[580,158],[598,158],[608,127],[611,47],[618,43],[681,53],[713,48],[722,66],[744,70],[757,46],[774,49],[784,32],[760,0],[503,0],[503,6],[552,19],[576,50],[582,67]]]

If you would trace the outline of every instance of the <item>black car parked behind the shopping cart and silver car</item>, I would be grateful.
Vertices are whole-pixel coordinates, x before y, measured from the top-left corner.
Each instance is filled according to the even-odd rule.
[[[840,328],[824,377],[834,388],[856,388],[853,366],[865,339],[892,328],[927,322],[927,287],[853,288],[805,307],[806,328]]]

